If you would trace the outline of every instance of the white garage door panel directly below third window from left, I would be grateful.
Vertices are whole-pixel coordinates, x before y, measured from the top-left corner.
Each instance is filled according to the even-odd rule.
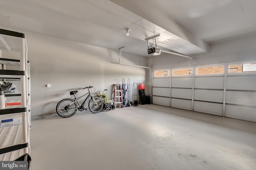
[[[194,88],[224,89],[224,77],[195,77]]]

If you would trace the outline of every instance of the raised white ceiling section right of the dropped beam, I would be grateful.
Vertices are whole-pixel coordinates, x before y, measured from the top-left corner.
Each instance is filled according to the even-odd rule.
[[[206,42],[256,32],[256,0],[143,1]]]

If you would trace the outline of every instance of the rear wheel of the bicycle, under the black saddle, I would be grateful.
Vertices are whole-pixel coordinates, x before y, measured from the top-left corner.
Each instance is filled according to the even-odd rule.
[[[60,117],[71,117],[76,111],[76,102],[71,99],[63,99],[56,106],[56,112]]]

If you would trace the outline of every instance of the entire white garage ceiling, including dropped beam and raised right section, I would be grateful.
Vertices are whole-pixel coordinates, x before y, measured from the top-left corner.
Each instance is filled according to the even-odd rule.
[[[147,54],[144,40],[192,55],[208,43],[256,33],[255,0],[0,0],[0,25]],[[125,28],[130,28],[126,36]]]

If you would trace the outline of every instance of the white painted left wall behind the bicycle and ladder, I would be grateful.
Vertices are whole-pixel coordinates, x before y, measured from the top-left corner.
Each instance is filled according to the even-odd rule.
[[[8,29],[8,28],[4,28]],[[20,31],[20,30],[14,30]],[[55,113],[56,104],[70,98],[69,92],[92,85],[96,91],[108,89],[112,96],[112,84],[122,84],[122,78],[130,83],[143,82],[148,70],[118,63],[118,50],[106,49],[36,33],[26,34],[28,60],[31,63],[31,113],[32,116]],[[2,52],[2,57],[17,59],[14,53]],[[144,57],[121,54],[121,63],[147,65]],[[46,84],[51,88],[46,88]],[[132,88],[132,85],[131,85]],[[78,96],[85,90],[79,90]],[[131,96],[132,99],[132,91]]]

